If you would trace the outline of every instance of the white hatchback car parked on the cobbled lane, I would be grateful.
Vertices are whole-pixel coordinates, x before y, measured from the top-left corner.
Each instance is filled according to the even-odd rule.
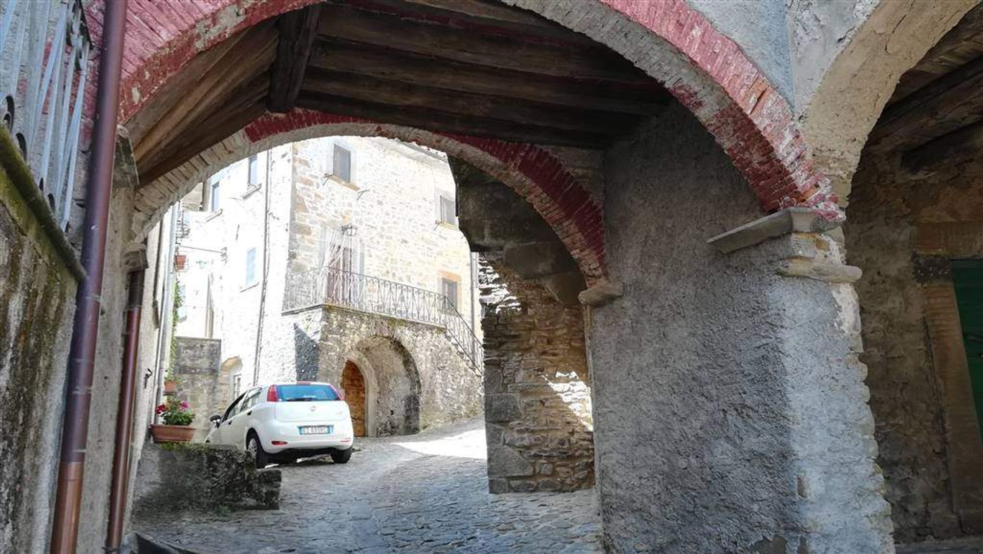
[[[204,442],[245,448],[257,468],[329,454],[335,464],[352,457],[352,416],[341,394],[328,383],[277,383],[253,387],[224,416]]]

